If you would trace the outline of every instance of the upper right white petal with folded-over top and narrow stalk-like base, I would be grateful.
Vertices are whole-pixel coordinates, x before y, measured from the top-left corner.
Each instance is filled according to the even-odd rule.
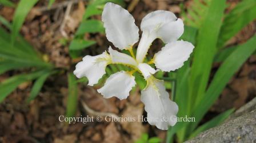
[[[183,34],[184,24],[170,11],[157,10],[142,19],[141,30],[143,33],[136,55],[139,63],[143,62],[154,39],[160,38],[165,43],[175,41]]]

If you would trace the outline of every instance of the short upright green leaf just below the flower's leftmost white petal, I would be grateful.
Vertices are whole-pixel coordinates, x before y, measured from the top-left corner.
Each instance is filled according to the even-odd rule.
[[[67,97],[67,117],[73,117],[77,112],[78,101],[78,87],[77,80],[73,73],[68,73],[67,78],[69,80],[69,97]]]

